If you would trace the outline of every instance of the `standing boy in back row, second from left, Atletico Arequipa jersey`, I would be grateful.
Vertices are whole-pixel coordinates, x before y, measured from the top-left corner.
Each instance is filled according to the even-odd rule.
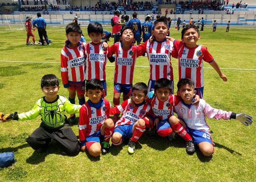
[[[103,28],[100,23],[90,23],[87,28],[88,36],[92,42],[85,45],[85,55],[87,57],[85,66],[85,79],[89,81],[93,78],[99,79],[103,84],[103,97],[107,95],[106,85],[106,63],[107,57],[111,57],[108,48],[105,49],[103,46],[108,47],[106,42],[101,43],[103,36]]]

